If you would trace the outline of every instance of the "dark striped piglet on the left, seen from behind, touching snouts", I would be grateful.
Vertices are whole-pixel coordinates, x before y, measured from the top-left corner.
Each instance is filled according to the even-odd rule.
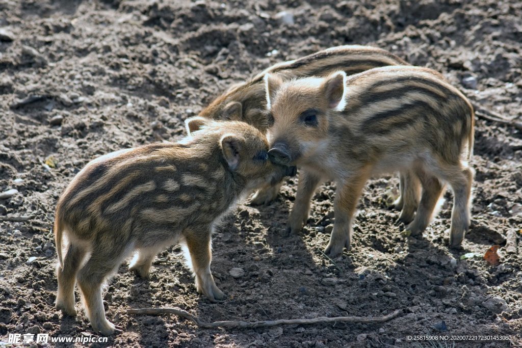
[[[76,315],[77,280],[94,331],[117,330],[105,318],[102,284],[134,251],[130,269],[147,277],[156,254],[181,243],[188,249],[197,291],[210,301],[223,298],[210,272],[213,226],[252,190],[295,175],[295,167],[268,160],[266,137],[246,123],[194,117],[186,124],[189,136],[180,142],[93,160],[58,200],[56,308]],[[62,259],[63,237],[67,253]]]

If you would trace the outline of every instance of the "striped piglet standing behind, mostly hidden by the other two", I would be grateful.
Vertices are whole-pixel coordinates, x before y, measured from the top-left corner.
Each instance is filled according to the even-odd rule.
[[[213,119],[237,119],[266,131],[270,119],[266,113],[266,98],[263,78],[266,74],[277,74],[284,80],[307,76],[326,76],[335,71],[345,71],[347,75],[388,65],[407,65],[398,56],[371,46],[344,45],[330,47],[293,61],[275,64],[250,80],[233,86],[216,100],[212,101],[200,116]],[[401,194],[394,207],[403,210],[403,215],[417,208],[418,193],[408,190],[408,173],[401,174]],[[281,184],[259,190],[252,198],[253,205],[268,204],[277,197]]]

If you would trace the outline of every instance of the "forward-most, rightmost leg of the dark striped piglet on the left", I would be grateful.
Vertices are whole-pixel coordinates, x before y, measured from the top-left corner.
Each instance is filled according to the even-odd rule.
[[[225,295],[217,287],[210,272],[210,262],[212,260],[210,228],[208,226],[189,227],[183,231],[183,234],[191,258],[187,261],[192,264],[198,293],[207,296],[211,302],[223,299]]]

